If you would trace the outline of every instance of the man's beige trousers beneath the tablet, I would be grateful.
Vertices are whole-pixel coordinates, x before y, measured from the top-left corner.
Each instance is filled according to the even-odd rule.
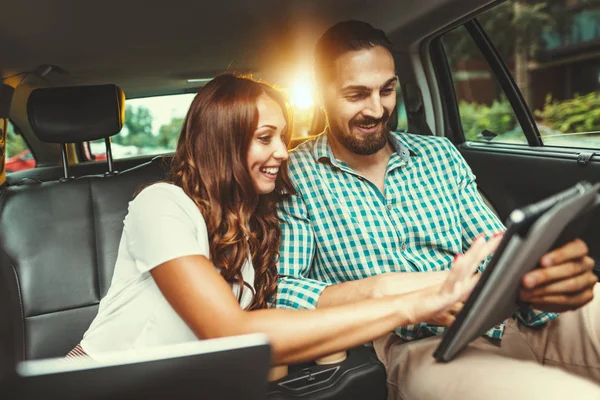
[[[600,284],[581,309],[536,328],[510,319],[501,341],[478,338],[449,363],[433,358],[439,343],[393,333],[373,343],[389,399],[600,400]]]

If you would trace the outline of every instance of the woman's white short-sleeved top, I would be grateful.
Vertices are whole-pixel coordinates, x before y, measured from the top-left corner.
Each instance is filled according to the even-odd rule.
[[[107,351],[198,340],[164,298],[150,270],[178,257],[210,259],[209,248],[204,218],[180,187],[156,183],[142,190],[129,203],[112,282],[83,336],[83,350],[101,360]],[[242,275],[254,287],[250,256]],[[233,292],[237,298],[237,284]],[[251,301],[252,292],[246,287],[240,306],[246,308]]]

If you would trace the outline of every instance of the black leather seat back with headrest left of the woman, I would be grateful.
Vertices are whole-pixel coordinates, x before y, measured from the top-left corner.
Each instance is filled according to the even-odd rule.
[[[33,131],[52,143],[110,137],[122,110],[115,85],[38,89],[28,100]],[[0,193],[0,324],[13,327],[15,360],[62,356],[79,342],[110,285],[127,205],[165,178],[162,161]]]

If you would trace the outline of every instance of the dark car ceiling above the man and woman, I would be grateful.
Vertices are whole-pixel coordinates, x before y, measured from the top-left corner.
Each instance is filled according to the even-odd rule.
[[[490,0],[13,1],[0,7],[4,78],[55,66],[49,85],[115,83],[128,97],[183,92],[225,71],[280,82],[310,68],[335,22],[382,28],[400,50]]]

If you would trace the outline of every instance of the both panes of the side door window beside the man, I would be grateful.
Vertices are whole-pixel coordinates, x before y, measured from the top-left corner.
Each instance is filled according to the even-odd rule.
[[[510,0],[477,19],[532,111],[542,143],[600,148],[600,55],[594,50],[600,3]],[[527,143],[511,128],[514,113],[466,29],[449,32],[443,42],[467,140]]]

